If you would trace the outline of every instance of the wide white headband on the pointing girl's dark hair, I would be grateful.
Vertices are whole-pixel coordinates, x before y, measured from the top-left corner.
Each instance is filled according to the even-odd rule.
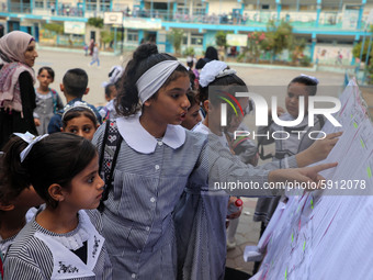
[[[136,86],[142,103],[151,98],[163,86],[179,65],[181,64],[178,60],[165,60],[156,64],[138,78]]]

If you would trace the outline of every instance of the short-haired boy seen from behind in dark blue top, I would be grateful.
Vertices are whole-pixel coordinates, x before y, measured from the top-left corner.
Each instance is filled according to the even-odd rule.
[[[82,97],[89,92],[88,86],[88,75],[83,69],[74,68],[68,70],[64,78],[63,83],[59,85],[60,90],[64,92],[66,97],[67,104],[72,105],[76,101],[82,101]],[[102,119],[98,110],[87,103],[90,107],[95,116],[98,117],[99,123],[102,123]],[[64,110],[59,110],[52,119],[48,125],[48,133],[60,132],[63,128],[61,117],[64,114]]]

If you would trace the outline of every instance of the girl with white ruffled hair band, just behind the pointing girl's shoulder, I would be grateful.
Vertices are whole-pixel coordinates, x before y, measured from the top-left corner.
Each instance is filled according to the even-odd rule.
[[[235,70],[227,69],[227,65],[218,60],[213,60],[204,66],[201,71],[200,81],[199,99],[203,104],[206,116],[193,131],[216,136],[222,146],[225,147],[225,150],[238,155],[239,159],[245,164],[252,163],[252,158],[256,157],[257,153],[252,149],[251,153],[240,150],[242,147],[234,145],[236,143],[233,143],[228,136],[231,131],[239,130],[238,127],[241,125],[244,115],[238,114],[236,116],[234,110],[229,107],[227,112],[227,123],[229,125],[221,126],[221,104],[225,102],[221,97],[226,97],[226,94],[234,96],[235,92],[248,92],[246,83],[236,75]],[[237,98],[237,101],[240,103],[244,112],[248,112],[248,99]],[[239,111],[238,105],[236,105],[235,109]],[[246,143],[249,141],[244,141],[240,145],[244,146],[245,149],[248,149]],[[325,142],[324,145],[331,147],[330,144],[330,142]],[[318,149],[324,150],[324,147],[318,147]],[[310,153],[315,153],[315,150]],[[327,154],[328,153],[326,153],[324,157],[326,157]],[[299,155],[298,157],[302,158],[304,155]],[[321,157],[319,159],[321,159]],[[297,159],[297,161],[302,160]],[[294,163],[294,160],[292,163]],[[280,164],[268,164],[262,168],[271,170],[280,167]],[[237,198],[231,197],[229,204],[234,203],[236,199]],[[224,279],[226,258],[225,216],[227,215],[227,208],[228,197],[226,194],[212,192],[212,190],[196,193],[190,189],[189,186],[187,187],[174,211],[177,237],[180,244],[184,246],[182,250],[185,251],[185,256],[180,257],[179,254],[179,262],[180,266],[182,266],[185,279]],[[201,211],[201,209],[204,211]],[[206,213],[208,213],[208,216]],[[231,247],[235,246],[234,233],[237,228],[239,214],[240,211],[227,216],[231,219],[229,227],[234,225],[230,234],[228,228],[228,234],[230,235],[230,240],[228,239],[228,242],[230,242]],[[221,215],[221,219],[218,219],[218,215]],[[214,221],[214,223],[212,223],[212,221]],[[189,228],[192,228],[192,231]],[[229,243],[227,243],[227,247]],[[196,260],[196,256],[201,255],[205,257]]]

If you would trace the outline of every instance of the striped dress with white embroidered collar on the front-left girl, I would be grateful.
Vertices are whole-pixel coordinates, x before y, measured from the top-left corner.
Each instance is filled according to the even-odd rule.
[[[67,234],[52,233],[37,224],[34,217],[10,247],[4,262],[4,279],[112,279],[104,238],[92,224],[99,229],[102,227],[100,215],[94,212],[79,211],[77,228]],[[86,242],[87,264],[71,251]]]

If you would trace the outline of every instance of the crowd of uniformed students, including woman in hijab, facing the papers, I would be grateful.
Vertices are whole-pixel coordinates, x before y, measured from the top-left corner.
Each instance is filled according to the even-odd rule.
[[[7,48],[14,41],[22,43],[16,55]],[[340,134],[255,167],[256,145],[231,137],[250,100],[238,98],[242,115],[229,109],[229,125],[219,124],[222,92],[248,91],[247,85],[217,59],[196,75],[192,65],[142,44],[124,69],[112,68],[109,103],[98,110],[82,101],[88,76],[79,68],[63,78],[65,107],[49,88],[52,68],[39,69],[34,90],[30,35],[5,35],[0,57],[4,279],[224,279],[226,219],[241,212],[227,209],[252,193],[212,182],[317,182],[319,171],[336,166],[306,167],[326,158]],[[286,117],[296,117],[298,96],[312,94],[304,80],[313,78],[289,86]]]

